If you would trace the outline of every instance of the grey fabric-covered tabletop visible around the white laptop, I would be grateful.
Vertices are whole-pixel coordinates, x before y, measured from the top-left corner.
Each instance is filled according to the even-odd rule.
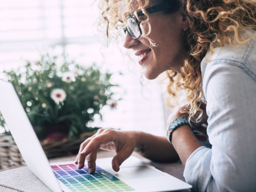
[[[115,153],[109,151],[98,152],[98,158],[114,156]],[[135,156],[135,153],[133,154]],[[72,161],[75,156],[64,158],[51,159],[50,162],[57,161]],[[184,181],[183,171],[184,167],[181,163],[155,163],[150,164],[156,169],[166,172],[180,180]],[[189,189],[181,190],[180,192],[189,192]],[[51,192],[44,183],[30,172],[27,166],[19,166],[10,169],[0,170],[0,192]]]

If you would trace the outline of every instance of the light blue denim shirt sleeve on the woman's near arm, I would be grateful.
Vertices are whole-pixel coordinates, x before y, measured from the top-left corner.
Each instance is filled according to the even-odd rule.
[[[212,149],[188,158],[184,178],[193,191],[256,191],[256,83],[243,69],[207,65],[203,90]]]

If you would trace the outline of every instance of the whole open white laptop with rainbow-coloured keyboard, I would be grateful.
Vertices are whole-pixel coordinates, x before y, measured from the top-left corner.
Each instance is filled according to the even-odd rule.
[[[160,192],[192,187],[135,156],[124,161],[119,172],[113,171],[112,158],[98,158],[94,174],[88,173],[87,165],[77,169],[74,161],[50,164],[12,84],[0,80],[0,90],[0,111],[22,157],[30,171],[53,192]]]

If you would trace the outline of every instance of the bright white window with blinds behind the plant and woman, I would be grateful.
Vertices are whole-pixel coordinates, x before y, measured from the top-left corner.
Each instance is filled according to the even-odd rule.
[[[24,65],[25,60],[36,60],[44,52],[65,53],[81,65],[96,62],[103,70],[122,73],[112,80],[123,88],[117,108],[103,108],[104,122],[95,124],[163,135],[160,87],[156,81],[141,87],[137,62],[129,62],[116,47],[106,48],[99,42],[98,16],[94,0],[0,0],[0,73]],[[118,49],[123,49],[121,44]]]

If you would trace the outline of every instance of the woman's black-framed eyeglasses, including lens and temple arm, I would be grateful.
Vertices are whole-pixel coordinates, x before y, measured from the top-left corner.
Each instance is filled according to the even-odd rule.
[[[159,11],[166,10],[168,12],[174,12],[180,8],[180,2],[177,0],[165,0],[161,4],[149,7],[145,11],[150,13],[155,13]],[[137,12],[138,17],[144,16],[145,14],[142,11]],[[136,18],[135,14],[132,13],[126,17],[126,27],[124,28],[124,33],[126,31],[133,39],[138,39],[142,35],[142,30],[140,28],[140,21]]]

